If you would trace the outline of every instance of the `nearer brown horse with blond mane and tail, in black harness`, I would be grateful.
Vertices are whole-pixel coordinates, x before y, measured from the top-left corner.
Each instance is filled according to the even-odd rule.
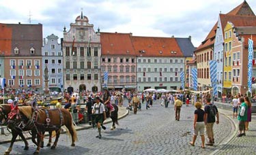
[[[59,139],[61,126],[65,125],[68,128],[70,135],[72,136],[72,146],[74,146],[74,141],[77,140],[76,130],[72,124],[72,116],[69,111],[66,109],[33,109],[31,106],[18,107],[18,113],[16,117],[12,117],[12,121],[8,120],[10,124],[33,124],[38,136],[38,147],[35,150],[34,154],[39,154],[40,145],[44,141],[44,132],[56,132],[55,142],[53,143],[51,149],[54,149],[57,145]],[[35,133],[32,133],[35,135]]]

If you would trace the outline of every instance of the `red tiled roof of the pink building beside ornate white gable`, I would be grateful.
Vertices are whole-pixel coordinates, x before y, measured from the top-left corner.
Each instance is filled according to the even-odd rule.
[[[102,55],[133,55],[130,33],[100,33]]]

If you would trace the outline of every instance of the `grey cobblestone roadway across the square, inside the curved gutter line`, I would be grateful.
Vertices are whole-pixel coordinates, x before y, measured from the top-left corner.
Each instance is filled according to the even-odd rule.
[[[106,124],[102,131],[102,139],[97,130],[90,128],[78,131],[79,141],[76,147],[70,146],[68,135],[61,135],[55,150],[42,148],[40,154],[211,154],[221,148],[235,130],[232,122],[221,115],[220,124],[214,125],[216,144],[202,149],[201,140],[197,139],[195,146],[188,144],[192,140],[193,111],[195,107],[183,106],[180,121],[175,121],[173,105],[169,108],[154,103],[150,109],[138,111],[137,115],[130,114],[119,120],[115,131],[110,131],[111,124]],[[47,141],[47,139],[45,139]],[[29,140],[31,144],[31,141]],[[10,145],[0,145],[2,154]],[[14,143],[13,154],[33,154],[34,145],[28,151],[23,150],[23,142]]]

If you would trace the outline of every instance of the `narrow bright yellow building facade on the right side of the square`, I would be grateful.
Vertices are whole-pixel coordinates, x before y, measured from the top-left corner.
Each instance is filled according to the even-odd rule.
[[[224,29],[223,88],[225,93],[232,86],[232,27],[233,24],[227,22]]]

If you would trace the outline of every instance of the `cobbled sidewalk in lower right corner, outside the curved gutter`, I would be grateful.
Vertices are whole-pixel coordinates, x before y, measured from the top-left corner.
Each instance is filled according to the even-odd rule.
[[[228,116],[236,123],[238,128],[238,119],[233,118],[232,111],[221,110],[223,114]],[[228,143],[225,143],[220,150],[216,150],[213,154],[256,154],[256,116],[252,116],[252,122],[249,123],[249,130],[246,131],[246,136],[236,137],[237,132],[234,133],[234,137],[230,139]]]

